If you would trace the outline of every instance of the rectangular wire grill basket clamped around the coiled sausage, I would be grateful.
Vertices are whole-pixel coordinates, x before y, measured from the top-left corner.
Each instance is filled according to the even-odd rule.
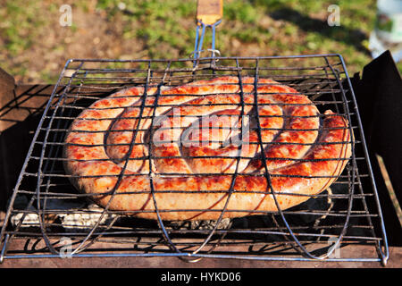
[[[338,180],[321,194],[287,210],[255,211],[255,215],[234,219],[222,219],[221,215],[218,221],[197,222],[162,221],[159,213],[163,210],[157,206],[158,221],[98,208],[90,205],[87,198],[91,194],[79,193],[71,186],[71,175],[63,169],[63,140],[71,122],[88,105],[125,87],[179,86],[222,75],[276,80],[309,97],[320,112],[331,109],[347,118],[355,136],[354,147]],[[72,257],[387,261],[375,182],[356,100],[340,55],[74,59],[66,63],[54,90],[61,92],[49,98],[6,213],[1,231],[2,260],[60,257],[68,249]],[[256,113],[257,121],[258,116]],[[264,176],[271,178],[267,172]],[[228,201],[232,192],[233,186],[228,190]],[[154,196],[155,189],[151,193]],[[28,253],[10,248],[18,239],[27,240]],[[377,256],[338,256],[335,250],[346,244],[373,245]]]

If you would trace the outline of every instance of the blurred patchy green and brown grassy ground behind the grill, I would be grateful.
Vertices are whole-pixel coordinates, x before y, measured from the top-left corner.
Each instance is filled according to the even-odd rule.
[[[350,75],[372,61],[375,0],[223,3],[216,37],[223,56],[337,53]],[[64,26],[66,4],[71,25]],[[331,4],[339,6],[339,26],[328,23]],[[196,0],[2,0],[0,67],[17,83],[54,83],[70,58],[187,58],[196,12]]]

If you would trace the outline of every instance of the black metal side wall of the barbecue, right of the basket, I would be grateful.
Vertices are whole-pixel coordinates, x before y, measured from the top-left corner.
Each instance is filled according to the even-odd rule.
[[[402,203],[402,80],[389,51],[364,67],[351,79],[359,107],[389,245],[402,245],[397,211],[381,175],[377,155],[389,173],[399,205]],[[394,199],[395,200],[395,199]]]

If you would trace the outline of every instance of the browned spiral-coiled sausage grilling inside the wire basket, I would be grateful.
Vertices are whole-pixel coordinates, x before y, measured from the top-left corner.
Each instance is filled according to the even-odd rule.
[[[134,87],[96,101],[65,139],[73,185],[143,218],[156,218],[156,203],[163,220],[217,219],[230,186],[223,217],[277,211],[271,188],[281,209],[327,189],[351,156],[348,122],[276,81],[240,83]]]

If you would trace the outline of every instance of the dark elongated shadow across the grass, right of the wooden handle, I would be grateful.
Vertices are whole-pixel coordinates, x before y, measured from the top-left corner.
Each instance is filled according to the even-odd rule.
[[[272,13],[270,16],[274,20],[289,21],[296,24],[300,29],[307,32],[320,33],[325,38],[331,38],[338,42],[345,43],[350,46],[355,46],[359,51],[366,55],[371,55],[370,51],[362,45],[362,41],[367,39],[367,35],[360,29],[349,29],[342,26],[330,26],[327,21],[311,18],[307,15],[298,13],[290,8],[281,8]]]

